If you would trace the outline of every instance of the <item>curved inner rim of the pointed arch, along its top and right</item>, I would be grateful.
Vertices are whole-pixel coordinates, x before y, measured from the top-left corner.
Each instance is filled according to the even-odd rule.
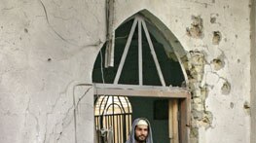
[[[148,23],[150,23],[148,25],[150,33],[153,34],[155,37],[158,37],[156,38],[156,40],[164,45],[165,53],[168,54],[170,58],[176,59],[179,62],[186,85],[188,85],[188,75],[186,73],[185,65],[183,63],[183,61],[187,60],[187,52],[184,50],[178,38],[174,35],[174,33],[171,32],[171,30],[165,25],[165,23],[160,18],[157,18],[149,10],[143,9],[125,19],[123,22],[119,24],[119,26],[116,27],[115,30],[117,30],[121,25],[123,25],[124,23],[128,22],[130,19],[136,16],[141,16]]]

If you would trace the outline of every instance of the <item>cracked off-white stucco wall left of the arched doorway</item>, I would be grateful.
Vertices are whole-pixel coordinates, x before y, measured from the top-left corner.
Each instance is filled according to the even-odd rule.
[[[105,40],[104,3],[2,0],[0,35],[0,142],[92,142],[93,96],[79,99],[79,84]]]

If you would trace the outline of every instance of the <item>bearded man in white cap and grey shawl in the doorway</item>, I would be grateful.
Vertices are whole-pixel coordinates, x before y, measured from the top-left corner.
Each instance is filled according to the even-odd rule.
[[[134,120],[126,143],[153,143],[152,130],[147,119]]]

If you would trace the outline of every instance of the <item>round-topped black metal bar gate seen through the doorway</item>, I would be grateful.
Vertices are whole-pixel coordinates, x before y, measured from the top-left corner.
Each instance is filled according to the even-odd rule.
[[[95,102],[98,143],[124,143],[131,127],[131,106],[126,96],[102,95]]]

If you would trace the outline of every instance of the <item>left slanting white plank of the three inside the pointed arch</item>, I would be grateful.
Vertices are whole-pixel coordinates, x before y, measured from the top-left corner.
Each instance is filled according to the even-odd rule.
[[[115,84],[115,85],[118,84],[118,81],[119,81],[119,78],[120,78],[122,69],[123,69],[123,67],[124,67],[124,63],[125,63],[125,60],[126,60],[127,55],[128,55],[128,48],[129,48],[129,45],[130,45],[130,43],[131,43],[132,36],[133,36],[134,30],[135,30],[137,21],[138,21],[137,18],[134,18],[134,21],[133,21],[133,23],[132,23],[130,32],[129,32],[129,34],[128,34],[128,41],[127,41],[127,44],[126,44],[124,53],[123,53],[123,55],[122,55],[122,58],[121,58],[121,61],[120,61],[119,67],[118,67],[118,71],[117,71],[116,77],[115,77],[115,80],[114,80],[114,84]]]

